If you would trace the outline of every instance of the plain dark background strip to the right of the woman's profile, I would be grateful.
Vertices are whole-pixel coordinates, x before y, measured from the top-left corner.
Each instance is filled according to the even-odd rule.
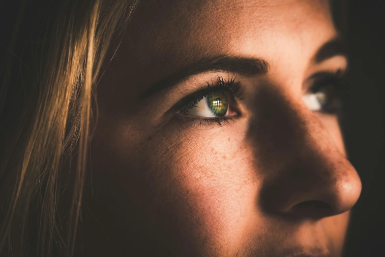
[[[349,159],[362,181],[345,257],[385,257],[385,0],[340,0],[335,5],[350,57],[341,125]]]

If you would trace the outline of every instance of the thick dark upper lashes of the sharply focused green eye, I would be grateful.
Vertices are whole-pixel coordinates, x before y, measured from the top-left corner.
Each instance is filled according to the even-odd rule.
[[[207,81],[207,88],[199,91],[191,96],[188,96],[188,98],[183,101],[182,107],[179,109],[179,112],[182,114],[185,114],[188,110],[192,109],[195,107],[195,105],[202,100],[204,97],[209,96],[210,94],[218,91],[226,91],[229,92],[230,95],[234,99],[241,100],[242,98],[242,91],[240,90],[240,82],[235,81],[237,76],[234,78],[231,77],[230,75],[228,77],[228,80],[225,80],[223,77],[217,78],[217,82],[214,85],[213,81],[211,80],[211,85]]]

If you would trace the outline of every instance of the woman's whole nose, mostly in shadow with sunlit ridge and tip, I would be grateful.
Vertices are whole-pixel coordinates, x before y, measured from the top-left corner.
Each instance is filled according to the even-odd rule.
[[[261,91],[258,98],[250,136],[257,149],[257,170],[264,178],[261,208],[302,218],[351,209],[361,193],[361,181],[343,144],[341,149],[330,136],[332,128],[302,103],[276,92]]]

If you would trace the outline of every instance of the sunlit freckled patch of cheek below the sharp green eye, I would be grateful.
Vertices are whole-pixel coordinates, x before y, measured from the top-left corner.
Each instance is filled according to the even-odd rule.
[[[173,203],[175,213],[185,229],[195,231],[197,241],[210,240],[207,246],[211,248],[236,245],[254,208],[246,152],[231,133],[222,132],[190,138],[169,155],[174,160],[165,169],[177,178],[169,190],[182,196]]]

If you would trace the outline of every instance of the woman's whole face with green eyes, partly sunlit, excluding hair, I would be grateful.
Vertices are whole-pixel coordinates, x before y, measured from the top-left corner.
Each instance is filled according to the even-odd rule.
[[[340,256],[361,182],[327,0],[142,0],[120,39],[98,85],[86,253]]]

